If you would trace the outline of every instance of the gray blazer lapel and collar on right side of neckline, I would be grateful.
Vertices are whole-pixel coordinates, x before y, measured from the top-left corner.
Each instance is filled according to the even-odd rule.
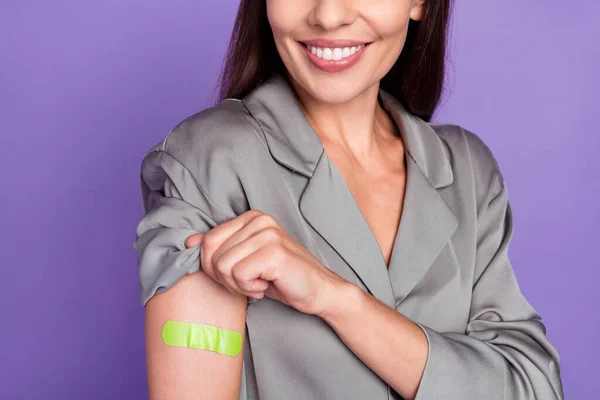
[[[398,306],[449,242],[458,219],[438,191],[454,181],[444,143],[427,122],[408,113],[396,98],[384,91],[380,97],[407,151],[404,208],[389,265]]]

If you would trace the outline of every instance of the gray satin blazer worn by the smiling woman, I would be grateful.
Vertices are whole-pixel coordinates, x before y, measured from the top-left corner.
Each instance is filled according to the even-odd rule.
[[[180,122],[141,166],[141,302],[200,268],[185,239],[249,209],[275,217],[323,265],[426,333],[418,400],[562,399],[559,357],[508,257],[513,222],[490,149],[426,123],[390,94],[407,188],[389,270],[288,82]],[[263,298],[247,306],[240,399],[398,399],[321,318]],[[365,340],[370,340],[365,338]],[[400,372],[399,372],[400,373]]]

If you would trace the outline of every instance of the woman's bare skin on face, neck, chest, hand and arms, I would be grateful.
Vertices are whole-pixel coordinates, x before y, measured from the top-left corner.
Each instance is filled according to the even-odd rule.
[[[409,19],[422,18],[423,0],[267,0],[267,12],[307,119],[389,262],[406,170],[403,143],[377,94],[402,51]],[[328,73],[313,66],[296,42],[317,37],[372,44],[352,68]],[[187,318],[243,332],[248,296],[268,296],[323,318],[403,398],[415,397],[428,354],[424,332],[323,266],[270,215],[250,210],[190,236],[186,246],[201,246],[201,271],[146,306],[151,398],[185,399],[195,393],[237,398],[243,354],[233,358],[169,348],[160,331],[167,319]],[[197,375],[189,377],[189,371]],[[220,384],[212,384],[216,381]]]

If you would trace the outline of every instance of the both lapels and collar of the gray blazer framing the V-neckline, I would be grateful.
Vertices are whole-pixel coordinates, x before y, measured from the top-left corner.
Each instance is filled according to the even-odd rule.
[[[418,283],[457,226],[437,188],[452,183],[444,146],[424,121],[380,90],[380,104],[399,127],[407,154],[407,187],[389,271],[364,215],[304,115],[287,78],[275,75],[242,99],[273,158],[304,175],[306,221],[355,271],[369,292],[396,306]]]

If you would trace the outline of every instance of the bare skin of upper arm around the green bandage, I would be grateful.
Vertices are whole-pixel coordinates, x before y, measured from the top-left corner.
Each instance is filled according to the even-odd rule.
[[[146,363],[150,399],[239,398],[243,349],[236,356],[167,346],[167,320],[217,326],[244,336],[247,298],[202,271],[186,275],[146,304]]]

